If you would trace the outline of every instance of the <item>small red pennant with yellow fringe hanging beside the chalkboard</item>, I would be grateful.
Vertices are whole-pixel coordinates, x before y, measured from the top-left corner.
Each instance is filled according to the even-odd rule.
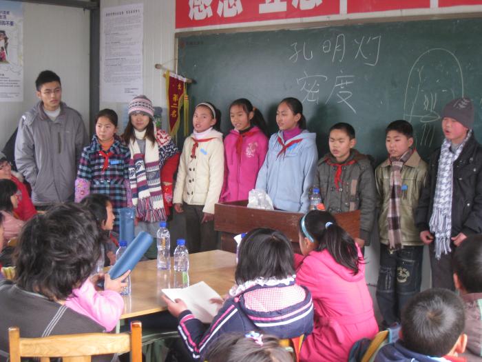
[[[186,92],[187,79],[180,77],[178,74],[170,74],[169,72],[166,72],[165,77],[169,134],[171,134],[171,137],[174,137],[179,130],[181,105],[184,107],[184,113],[187,113],[187,104],[189,104]]]

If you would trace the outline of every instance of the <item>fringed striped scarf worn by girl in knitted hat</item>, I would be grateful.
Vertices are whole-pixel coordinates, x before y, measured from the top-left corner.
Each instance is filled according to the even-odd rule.
[[[145,131],[135,133],[139,139],[145,136]],[[157,143],[145,139],[145,152],[142,154],[137,141],[131,140],[129,150],[129,185],[132,190],[132,204],[136,207],[136,217],[149,223],[165,220]]]

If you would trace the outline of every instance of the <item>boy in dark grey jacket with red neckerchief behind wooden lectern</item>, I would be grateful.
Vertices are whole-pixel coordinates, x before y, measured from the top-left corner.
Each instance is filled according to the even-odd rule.
[[[348,123],[330,128],[330,152],[319,159],[313,188],[319,188],[326,211],[360,210],[360,248],[370,241],[375,221],[375,174],[370,159],[355,150],[355,129]]]

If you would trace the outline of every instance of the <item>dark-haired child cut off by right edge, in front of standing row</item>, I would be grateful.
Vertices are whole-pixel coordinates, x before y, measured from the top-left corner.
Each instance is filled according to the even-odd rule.
[[[465,303],[468,361],[482,357],[482,235],[465,239],[454,252],[455,288]]]

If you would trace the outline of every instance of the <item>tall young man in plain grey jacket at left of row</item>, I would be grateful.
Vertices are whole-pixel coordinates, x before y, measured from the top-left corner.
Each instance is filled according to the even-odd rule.
[[[35,86],[40,101],[20,119],[15,161],[32,186],[32,202],[42,209],[74,200],[77,164],[88,139],[81,114],[62,102],[59,76],[44,70]]]

